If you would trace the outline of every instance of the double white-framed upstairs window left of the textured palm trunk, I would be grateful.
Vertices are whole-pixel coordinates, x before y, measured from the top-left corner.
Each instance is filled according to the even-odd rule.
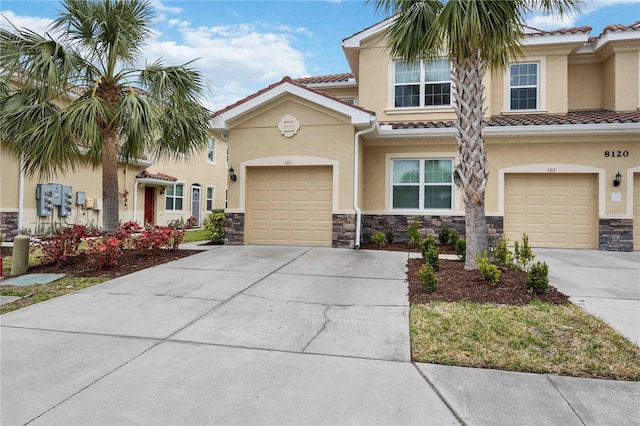
[[[395,63],[396,108],[451,105],[451,65],[446,59]]]

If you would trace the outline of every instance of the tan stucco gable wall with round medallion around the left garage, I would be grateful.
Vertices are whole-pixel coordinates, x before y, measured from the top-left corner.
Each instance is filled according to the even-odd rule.
[[[300,129],[291,138],[278,130],[280,119],[291,114]],[[265,157],[288,156],[289,165],[304,165],[296,156],[325,158],[339,163],[338,209],[353,210],[353,137],[354,127],[340,116],[307,101],[288,96],[265,106],[229,129],[229,158],[240,173],[241,164]],[[278,165],[285,165],[278,164]],[[229,185],[229,208],[240,208],[240,188],[245,176]]]

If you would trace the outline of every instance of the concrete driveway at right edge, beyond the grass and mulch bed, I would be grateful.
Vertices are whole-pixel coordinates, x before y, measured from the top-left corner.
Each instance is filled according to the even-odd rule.
[[[572,303],[640,344],[640,252],[535,249],[549,281]]]

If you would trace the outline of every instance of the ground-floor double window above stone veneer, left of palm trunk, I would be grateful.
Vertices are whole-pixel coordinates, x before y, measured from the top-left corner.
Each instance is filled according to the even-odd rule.
[[[392,174],[392,208],[452,208],[453,160],[393,160]]]

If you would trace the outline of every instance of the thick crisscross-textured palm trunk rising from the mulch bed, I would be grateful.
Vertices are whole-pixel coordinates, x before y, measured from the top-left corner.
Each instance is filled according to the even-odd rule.
[[[484,76],[480,52],[454,64],[452,81],[458,117],[457,177],[465,205],[467,257],[464,268],[478,269],[476,256],[489,247],[484,195],[487,186],[487,153],[484,147]]]

